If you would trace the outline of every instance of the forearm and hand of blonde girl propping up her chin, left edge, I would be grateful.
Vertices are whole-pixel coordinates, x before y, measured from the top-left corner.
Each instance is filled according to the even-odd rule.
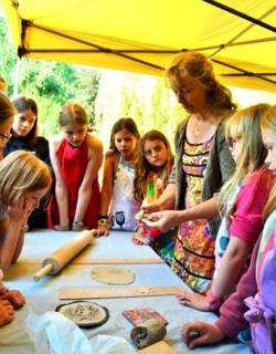
[[[8,207],[8,218],[0,221],[0,269],[7,272],[18,260],[24,243],[25,223],[31,214],[31,200],[24,196]]]

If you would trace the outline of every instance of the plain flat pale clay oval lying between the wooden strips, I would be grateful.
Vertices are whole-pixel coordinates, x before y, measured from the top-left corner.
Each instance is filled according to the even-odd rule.
[[[92,270],[91,277],[102,283],[126,285],[135,281],[135,273],[116,267],[98,267]]]

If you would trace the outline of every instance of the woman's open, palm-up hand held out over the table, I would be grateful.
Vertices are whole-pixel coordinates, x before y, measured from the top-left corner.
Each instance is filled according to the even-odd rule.
[[[163,210],[159,212],[152,212],[147,219],[141,219],[141,221],[150,228],[156,228],[161,232],[166,232],[177,225],[179,225],[176,216],[178,211],[176,210]]]

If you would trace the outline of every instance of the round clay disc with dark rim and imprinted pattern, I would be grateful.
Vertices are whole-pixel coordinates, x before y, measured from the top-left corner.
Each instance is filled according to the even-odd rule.
[[[102,325],[109,319],[109,312],[106,308],[89,301],[65,303],[57,306],[55,311],[73,321],[79,327]]]

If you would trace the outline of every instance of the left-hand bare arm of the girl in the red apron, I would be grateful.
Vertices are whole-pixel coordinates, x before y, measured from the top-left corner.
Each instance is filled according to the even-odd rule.
[[[60,214],[60,223],[53,228],[59,231],[66,231],[70,229],[68,221],[68,190],[62,177],[61,160],[56,154],[61,143],[61,136],[54,136],[49,143],[50,159],[55,174],[55,197]]]

